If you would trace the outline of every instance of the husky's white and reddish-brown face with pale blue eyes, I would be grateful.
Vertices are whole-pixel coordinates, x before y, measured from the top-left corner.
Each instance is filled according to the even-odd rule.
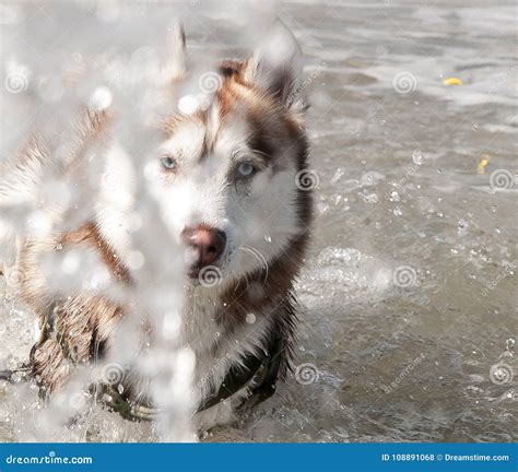
[[[307,229],[297,184],[307,142],[293,106],[298,47],[280,33],[289,54],[267,57],[263,47],[222,64],[211,104],[164,123],[161,199],[195,283],[207,271],[225,281],[264,268]]]

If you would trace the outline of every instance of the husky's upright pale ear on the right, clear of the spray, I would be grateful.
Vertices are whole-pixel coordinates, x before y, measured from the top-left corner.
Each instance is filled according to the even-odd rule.
[[[275,96],[286,107],[303,102],[297,96],[302,82],[302,51],[293,33],[276,20],[266,39],[246,62],[246,82]]]

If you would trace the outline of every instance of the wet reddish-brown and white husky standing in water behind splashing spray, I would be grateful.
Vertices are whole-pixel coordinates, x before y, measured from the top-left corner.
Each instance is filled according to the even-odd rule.
[[[183,31],[174,49],[170,72],[178,84],[188,74]],[[293,283],[311,223],[301,74],[299,47],[278,22],[251,57],[220,64],[209,106],[192,113],[180,107],[162,123],[156,187],[169,199],[174,231],[189,255],[180,340],[196,354],[200,415],[222,400],[234,411],[249,399],[268,398],[290,369],[296,322]],[[75,154],[86,141],[101,140],[109,120],[106,110],[85,109]],[[5,170],[10,177],[0,180],[0,204],[31,180],[30,174],[50,165],[49,154],[38,140],[27,144],[14,170]],[[42,256],[87,247],[117,282],[138,283],[125,235],[111,215],[99,206],[75,228],[17,241],[13,267],[23,274],[17,294],[38,314],[43,329],[31,369],[45,394],[64,386],[74,365],[109,351],[125,309],[89,292],[55,299]],[[4,274],[10,269],[4,267]],[[125,386],[129,402],[140,394],[134,390],[134,385]]]

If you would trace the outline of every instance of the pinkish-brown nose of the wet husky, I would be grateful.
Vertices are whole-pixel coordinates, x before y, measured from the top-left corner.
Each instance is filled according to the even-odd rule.
[[[214,263],[226,245],[226,235],[210,226],[187,227],[181,232],[181,240],[193,249],[193,263],[200,269]]]

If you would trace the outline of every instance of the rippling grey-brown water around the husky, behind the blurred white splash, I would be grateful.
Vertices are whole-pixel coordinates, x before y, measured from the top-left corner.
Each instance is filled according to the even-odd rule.
[[[279,5],[307,59],[318,180],[297,283],[299,368],[207,440],[517,439],[516,7],[470,3]],[[240,55],[243,7],[183,8],[191,47]],[[0,353],[20,358],[32,317],[5,307]],[[0,386],[3,440],[35,402],[17,394]],[[64,437],[152,435],[93,417]]]

